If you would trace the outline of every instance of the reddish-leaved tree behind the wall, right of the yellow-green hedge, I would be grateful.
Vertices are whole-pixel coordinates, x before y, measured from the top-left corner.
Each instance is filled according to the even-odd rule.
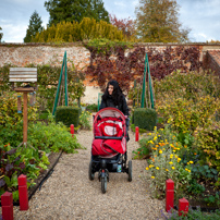
[[[135,22],[132,19],[117,19],[115,14],[109,14],[110,23],[118,27],[118,29],[123,32],[123,35],[127,40],[135,39]]]

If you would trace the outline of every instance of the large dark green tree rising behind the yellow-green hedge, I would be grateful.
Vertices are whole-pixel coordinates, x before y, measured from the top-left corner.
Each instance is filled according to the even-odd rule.
[[[81,22],[83,17],[109,22],[102,0],[48,0],[45,7],[50,14],[49,26],[65,22]]]

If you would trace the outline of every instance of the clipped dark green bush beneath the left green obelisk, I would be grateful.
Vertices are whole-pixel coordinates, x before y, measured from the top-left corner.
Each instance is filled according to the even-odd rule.
[[[58,107],[56,111],[56,122],[63,122],[66,126],[74,124],[78,126],[81,109],[77,107]]]

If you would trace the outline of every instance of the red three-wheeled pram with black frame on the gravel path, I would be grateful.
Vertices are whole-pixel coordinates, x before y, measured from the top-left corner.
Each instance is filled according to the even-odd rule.
[[[126,172],[132,181],[132,160],[126,164],[126,129],[124,114],[115,108],[101,109],[94,118],[88,176],[94,180],[98,172],[102,193],[107,191],[109,172]]]

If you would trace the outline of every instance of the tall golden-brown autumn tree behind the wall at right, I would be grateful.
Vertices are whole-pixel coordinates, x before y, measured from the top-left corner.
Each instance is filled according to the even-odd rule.
[[[188,41],[190,29],[182,28],[178,21],[176,0],[139,0],[135,13],[137,34],[143,41]]]

